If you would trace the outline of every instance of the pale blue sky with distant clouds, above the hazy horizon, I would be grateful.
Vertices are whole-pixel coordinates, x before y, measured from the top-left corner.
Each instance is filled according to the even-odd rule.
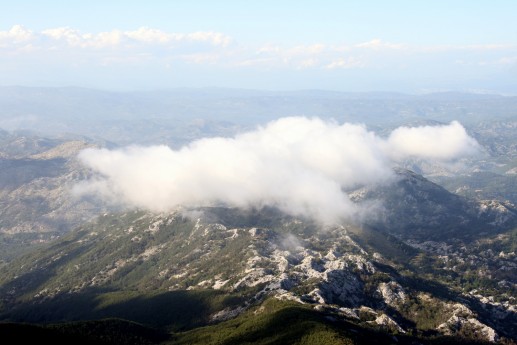
[[[4,1],[0,85],[517,94],[517,1]]]

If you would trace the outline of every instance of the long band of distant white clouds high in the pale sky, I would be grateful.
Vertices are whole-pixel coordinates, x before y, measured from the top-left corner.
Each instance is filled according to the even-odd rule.
[[[119,60],[127,62],[131,62],[134,56],[140,56],[141,62],[153,60],[153,64],[163,66],[174,60],[206,64],[206,59],[199,59],[198,55],[210,54],[213,57],[209,63],[216,61],[224,67],[293,70],[388,67],[400,71],[407,69],[408,63],[411,65],[412,61],[420,61],[422,54],[428,57],[436,54],[434,59],[437,59],[437,63],[447,61],[456,68],[458,61],[461,61],[461,65],[507,65],[515,63],[512,57],[517,49],[515,44],[417,46],[379,38],[338,45],[329,44],[325,40],[294,46],[272,43],[254,45],[236,42],[230,35],[218,31],[167,32],[145,26],[134,30],[113,29],[103,32],[83,32],[73,27],[35,31],[23,25],[1,29],[0,53],[38,59],[42,55],[62,59],[65,55],[68,56],[67,62],[74,66],[86,62],[103,65],[106,57],[110,56],[117,56]],[[78,58],[84,54],[89,59]],[[418,66],[421,69],[421,62]]]

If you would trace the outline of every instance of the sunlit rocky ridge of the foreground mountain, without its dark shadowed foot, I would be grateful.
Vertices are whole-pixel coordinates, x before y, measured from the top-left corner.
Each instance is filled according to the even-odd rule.
[[[17,306],[25,303],[93,288],[208,289],[243,298],[241,304],[209,315],[210,322],[230,319],[274,297],[395,333],[474,334],[494,342],[501,335],[515,337],[507,327],[516,319],[513,304],[481,310],[479,300],[466,298],[467,291],[449,287],[444,296],[439,285],[436,292],[415,285],[418,276],[400,273],[403,262],[361,244],[366,229],[317,228],[290,217],[268,227],[260,226],[260,219],[232,226],[228,220],[215,221],[217,212],[207,209],[204,217],[194,219],[182,211],[106,214],[40,255],[15,260],[10,267],[19,269],[4,267],[3,317],[22,317],[16,316]],[[413,255],[422,253],[431,255],[429,249]],[[434,316],[422,318],[420,308],[430,308]]]

